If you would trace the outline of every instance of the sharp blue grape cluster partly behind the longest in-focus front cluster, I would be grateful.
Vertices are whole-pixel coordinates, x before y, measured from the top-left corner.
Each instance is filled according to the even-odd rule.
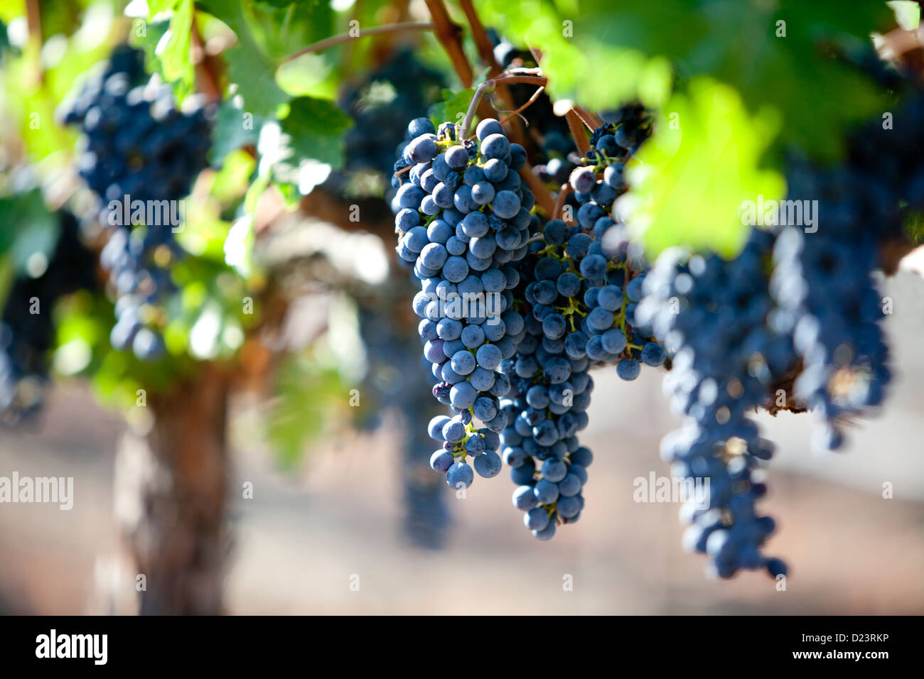
[[[526,335],[517,354],[502,364],[511,390],[502,408],[513,422],[501,432],[505,462],[517,489],[513,503],[535,537],[553,537],[556,524],[574,523],[584,506],[590,449],[577,431],[588,425],[594,366],[613,365],[624,380],[640,363],[663,365],[663,346],[637,324],[645,262],[611,216],[626,190],[622,167],[610,146],[616,128],[592,136],[594,152],[570,177],[577,224],[547,222],[542,242],[518,266]],[[613,152],[612,154],[610,152]]]

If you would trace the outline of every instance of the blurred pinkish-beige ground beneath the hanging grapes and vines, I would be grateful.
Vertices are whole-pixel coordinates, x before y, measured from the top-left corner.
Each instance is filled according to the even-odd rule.
[[[300,473],[284,476],[250,418],[236,418],[232,487],[253,481],[254,498],[233,502],[229,612],[922,613],[924,282],[900,276],[888,294],[894,390],[845,453],[812,455],[807,416],[760,417],[779,443],[764,506],[780,527],[768,552],[790,564],[786,591],[762,574],[707,580],[703,558],[680,548],[677,505],[633,502],[633,479],[667,475],[658,442],[677,426],[660,375],[643,370],[631,384],[595,375],[587,508],[545,543],[522,527],[505,471],[451,499],[444,551],[419,551],[400,535],[400,462],[386,432],[319,446]],[[41,432],[0,431],[0,476],[75,477],[70,512],[0,504],[0,610],[90,610],[94,564],[116,545],[121,430],[119,418],[68,384],[52,394]],[[894,499],[881,497],[883,482],[894,485]],[[355,576],[359,591],[350,589]],[[563,589],[566,576],[572,591]]]

